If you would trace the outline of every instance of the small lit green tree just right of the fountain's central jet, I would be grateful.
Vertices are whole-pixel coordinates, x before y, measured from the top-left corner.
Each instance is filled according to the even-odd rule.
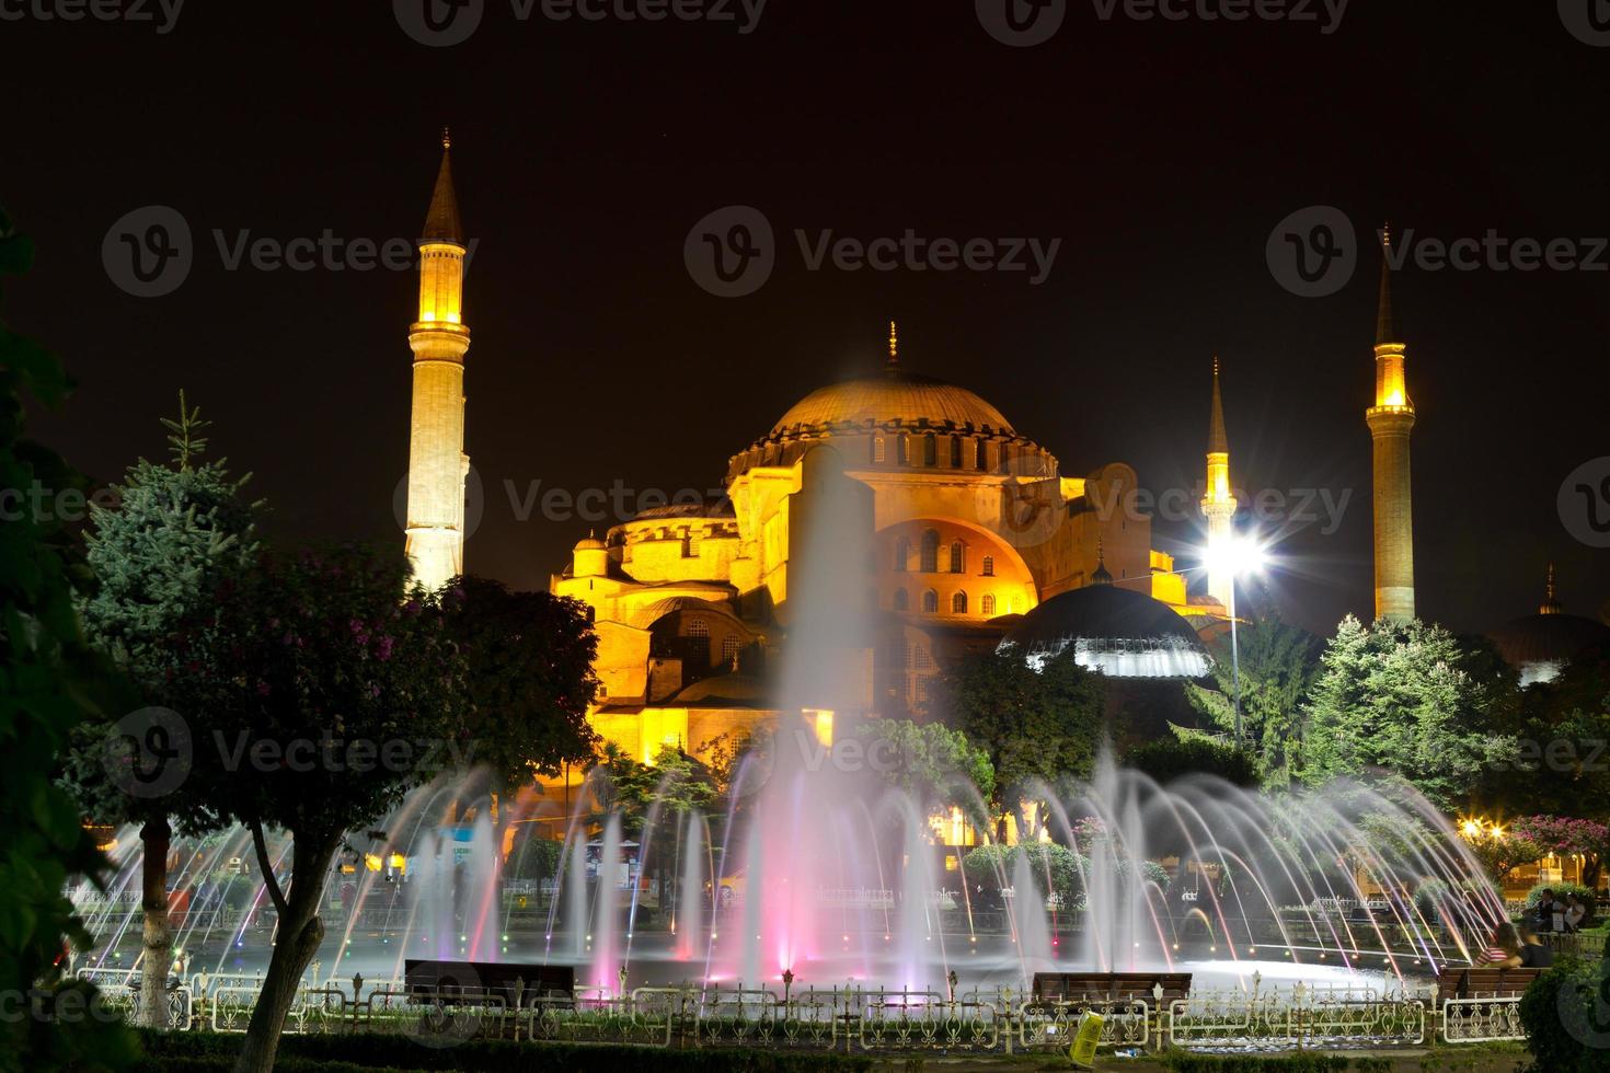
[[[974,787],[985,801],[995,793],[995,767],[968,735],[940,722],[869,719],[855,729],[866,764],[910,793],[926,809],[961,806],[976,811]],[[974,822],[982,822],[976,817]]]

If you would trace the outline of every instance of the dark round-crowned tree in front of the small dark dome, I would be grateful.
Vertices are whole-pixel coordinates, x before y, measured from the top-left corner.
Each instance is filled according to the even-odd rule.
[[[1006,647],[966,656],[942,676],[935,711],[989,756],[998,803],[1016,803],[1035,785],[1090,774],[1104,692],[1101,676],[1079,666],[1072,648],[1034,669]]]

